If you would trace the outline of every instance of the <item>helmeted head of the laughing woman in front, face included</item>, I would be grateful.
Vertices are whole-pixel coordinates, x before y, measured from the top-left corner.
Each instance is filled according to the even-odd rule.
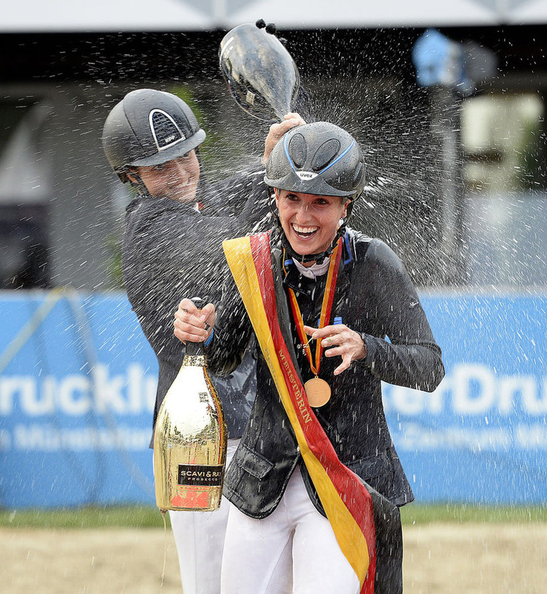
[[[359,144],[326,121],[293,129],[274,148],[266,184],[275,188],[284,247],[298,261],[321,264],[342,237],[364,185]]]

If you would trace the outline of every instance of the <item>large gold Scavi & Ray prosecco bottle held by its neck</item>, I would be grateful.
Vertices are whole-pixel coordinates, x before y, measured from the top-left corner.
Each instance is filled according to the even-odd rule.
[[[183,366],[163,399],[154,432],[156,504],[161,511],[217,509],[226,447],[222,407],[207,374],[203,344],[188,342]]]

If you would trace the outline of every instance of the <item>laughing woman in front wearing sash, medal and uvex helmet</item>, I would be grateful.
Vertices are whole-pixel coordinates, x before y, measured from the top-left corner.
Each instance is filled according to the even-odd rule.
[[[293,576],[295,592],[401,593],[398,508],[413,494],[381,382],[432,392],[444,374],[440,349],[399,258],[346,228],[364,184],[364,156],[347,131],[294,127],[271,151],[264,181],[278,229],[224,241],[234,282],[218,319],[213,303],[198,311],[188,298],[175,314],[180,340],[206,340],[206,323],[215,326],[214,372],[234,369],[253,329],[259,345],[253,410],[224,480],[222,591],[281,593]]]

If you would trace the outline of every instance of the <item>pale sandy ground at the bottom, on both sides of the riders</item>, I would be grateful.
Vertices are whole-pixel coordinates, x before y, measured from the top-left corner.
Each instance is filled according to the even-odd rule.
[[[404,539],[406,594],[547,592],[547,524],[404,527]],[[181,591],[163,529],[0,528],[0,558],[2,594]]]

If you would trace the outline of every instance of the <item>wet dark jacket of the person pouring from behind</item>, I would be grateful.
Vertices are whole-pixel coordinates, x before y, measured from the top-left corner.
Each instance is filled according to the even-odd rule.
[[[220,298],[218,279],[229,274],[222,240],[271,225],[263,222],[269,212],[263,177],[264,171],[249,171],[215,185],[200,180],[201,212],[193,204],[150,195],[137,196],[126,209],[124,285],[159,365],[154,426],[185,355],[185,345],[173,334],[178,303],[184,297]],[[215,379],[215,385],[228,434],[239,437],[254,399],[254,360],[247,356],[235,377]]]

